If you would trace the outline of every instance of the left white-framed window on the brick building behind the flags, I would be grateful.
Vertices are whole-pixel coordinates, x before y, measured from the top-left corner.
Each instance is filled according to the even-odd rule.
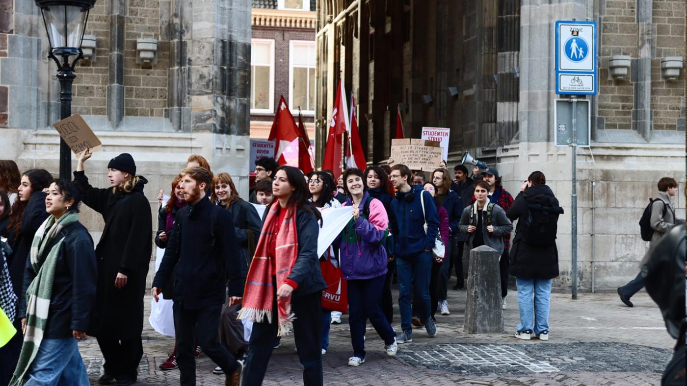
[[[251,112],[273,112],[274,40],[251,40]]]

